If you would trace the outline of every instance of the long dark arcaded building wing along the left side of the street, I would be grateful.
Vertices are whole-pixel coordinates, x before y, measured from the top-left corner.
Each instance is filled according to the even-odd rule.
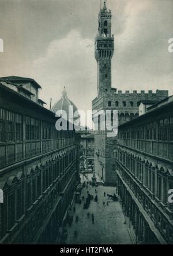
[[[78,135],[0,83],[0,244],[55,243],[80,181]]]

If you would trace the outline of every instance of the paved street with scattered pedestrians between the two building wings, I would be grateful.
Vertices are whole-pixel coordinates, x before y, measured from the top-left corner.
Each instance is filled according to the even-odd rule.
[[[88,180],[91,174],[88,174]],[[81,182],[84,182],[81,178]],[[115,193],[115,188],[112,186],[97,186],[97,203],[91,200],[88,209],[83,209],[82,204],[73,204],[76,206],[76,212],[70,211],[74,220],[72,226],[67,225],[67,240],[66,244],[131,244],[130,236],[126,228],[125,218],[123,216],[119,202],[113,202],[107,198],[107,193]],[[88,189],[83,188],[81,197],[87,196],[87,190],[95,198],[95,187],[88,185]],[[106,197],[104,197],[106,192]],[[106,203],[103,206],[103,201]],[[107,206],[108,202],[108,206]],[[90,213],[87,218],[87,213]],[[92,224],[91,214],[94,214],[95,223]],[[78,222],[75,221],[78,215]],[[74,231],[77,231],[77,237],[74,237]]]

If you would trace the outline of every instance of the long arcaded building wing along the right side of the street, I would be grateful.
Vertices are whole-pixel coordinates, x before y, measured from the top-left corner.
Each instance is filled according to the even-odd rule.
[[[171,97],[170,97],[171,98]],[[119,201],[136,243],[173,243],[173,101],[119,126]]]

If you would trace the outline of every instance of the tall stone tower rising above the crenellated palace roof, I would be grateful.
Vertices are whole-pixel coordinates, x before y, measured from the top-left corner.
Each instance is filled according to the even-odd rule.
[[[111,92],[111,58],[114,54],[114,35],[111,35],[111,10],[104,1],[99,12],[99,34],[95,38],[97,61],[97,97]]]

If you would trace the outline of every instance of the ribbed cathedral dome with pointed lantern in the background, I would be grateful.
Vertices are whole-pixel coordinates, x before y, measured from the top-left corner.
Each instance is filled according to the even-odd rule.
[[[54,106],[51,109],[52,112],[56,113],[57,111],[60,111],[60,114],[63,115],[63,111],[66,111],[67,114],[67,119],[69,120],[69,117],[74,116],[74,113],[77,110],[76,105],[74,105],[74,103],[72,101],[69,100],[69,98],[67,97],[67,92],[66,92],[66,88],[63,87],[63,92],[62,92],[62,97],[60,100],[58,100]],[[76,119],[76,118],[74,118]]]

